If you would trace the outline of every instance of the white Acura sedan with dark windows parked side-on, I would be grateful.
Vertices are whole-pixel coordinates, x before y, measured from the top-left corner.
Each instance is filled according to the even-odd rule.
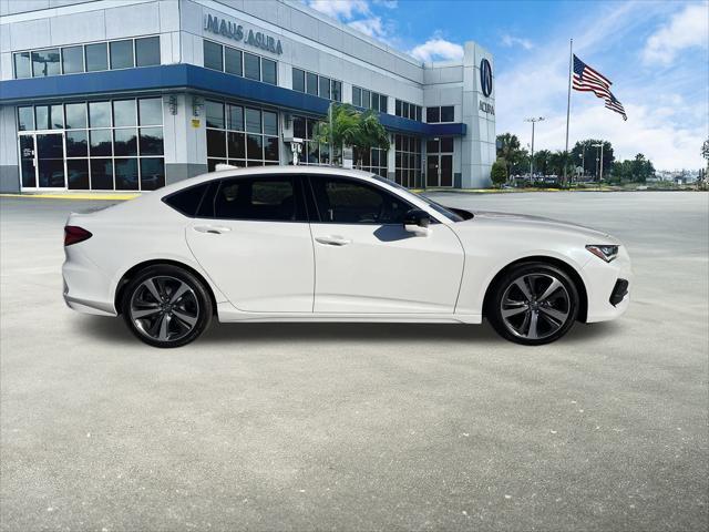
[[[552,219],[443,207],[341,168],[193,177],[65,227],[64,299],[177,347],[219,321],[480,324],[541,345],[628,307],[614,237]]]

